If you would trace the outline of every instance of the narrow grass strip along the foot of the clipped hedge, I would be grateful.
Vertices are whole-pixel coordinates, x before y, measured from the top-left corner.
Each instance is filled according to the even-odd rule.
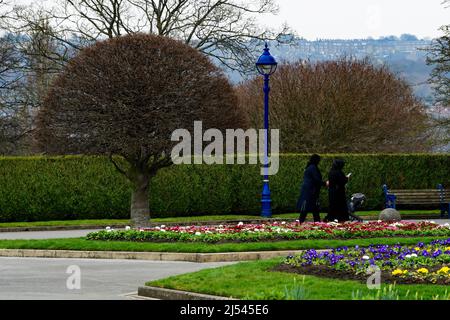
[[[400,211],[404,216],[411,214],[440,214],[439,210],[413,210]],[[379,211],[358,212],[361,216],[377,216]],[[322,218],[326,216],[321,214]],[[277,219],[297,219],[298,213],[288,213],[274,215]],[[222,216],[198,216],[198,217],[172,217],[172,218],[156,218],[152,219],[155,223],[195,223],[202,221],[222,221],[222,220],[251,220],[260,218],[259,216],[250,215],[222,215]],[[311,216],[309,217],[311,219]],[[36,221],[36,222],[2,222],[0,228],[27,228],[27,227],[55,227],[55,226],[109,226],[109,225],[127,225],[130,220],[65,220],[65,221]]]

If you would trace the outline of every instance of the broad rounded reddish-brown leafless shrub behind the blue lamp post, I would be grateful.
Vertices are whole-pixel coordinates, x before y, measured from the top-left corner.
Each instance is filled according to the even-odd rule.
[[[238,88],[253,127],[262,123],[260,77]],[[298,62],[271,77],[271,127],[282,152],[426,151],[424,105],[408,84],[368,61]]]

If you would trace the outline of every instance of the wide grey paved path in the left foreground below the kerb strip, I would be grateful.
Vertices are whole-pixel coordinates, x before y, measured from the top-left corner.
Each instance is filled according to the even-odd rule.
[[[0,258],[0,300],[123,300],[133,299],[145,282],[195,272],[230,263],[153,262],[136,260],[86,260]],[[67,281],[80,270],[80,290],[69,290]],[[73,272],[73,271],[72,271]],[[76,281],[69,281],[76,284]]]

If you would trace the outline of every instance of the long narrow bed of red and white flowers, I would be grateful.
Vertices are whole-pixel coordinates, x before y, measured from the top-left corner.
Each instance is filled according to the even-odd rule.
[[[138,242],[257,242],[300,239],[355,239],[377,237],[450,236],[450,226],[433,222],[368,223],[265,223],[156,227],[140,230],[105,230],[90,233],[88,240]]]

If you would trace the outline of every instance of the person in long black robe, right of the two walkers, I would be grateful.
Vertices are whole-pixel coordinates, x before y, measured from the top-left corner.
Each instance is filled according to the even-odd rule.
[[[347,197],[345,195],[345,185],[348,183],[350,175],[346,176],[342,171],[345,162],[336,159],[328,175],[328,199],[329,213],[326,221],[338,220],[339,222],[349,221]]]

